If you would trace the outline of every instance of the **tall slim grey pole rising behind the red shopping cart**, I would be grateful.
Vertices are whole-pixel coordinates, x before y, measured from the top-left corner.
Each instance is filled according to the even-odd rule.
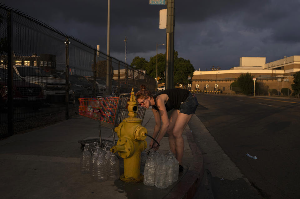
[[[110,79],[110,0],[108,0],[107,8],[107,58],[106,58],[106,95],[110,94],[111,79]]]

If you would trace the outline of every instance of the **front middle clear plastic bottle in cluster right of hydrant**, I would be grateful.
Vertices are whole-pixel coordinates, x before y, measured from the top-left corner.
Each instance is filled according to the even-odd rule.
[[[162,155],[155,170],[155,187],[164,189],[168,187],[168,164],[167,158]]]

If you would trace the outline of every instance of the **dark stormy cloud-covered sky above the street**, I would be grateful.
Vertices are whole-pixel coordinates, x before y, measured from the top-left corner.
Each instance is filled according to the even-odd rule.
[[[266,62],[300,55],[299,0],[174,0],[175,43],[178,56],[195,70],[219,66],[227,70],[239,58],[266,57]],[[9,7],[47,23],[107,52],[106,0],[2,0]],[[111,0],[110,56],[127,63],[135,56],[149,61],[156,43],[165,44],[166,29],[159,29],[159,10],[149,0]],[[165,53],[158,46],[158,53]]]

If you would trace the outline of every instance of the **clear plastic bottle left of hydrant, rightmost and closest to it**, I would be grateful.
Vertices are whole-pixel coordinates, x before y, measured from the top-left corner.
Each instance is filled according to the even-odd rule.
[[[110,152],[111,153],[111,152]],[[107,179],[117,180],[120,177],[119,159],[116,154],[111,153],[107,161]]]

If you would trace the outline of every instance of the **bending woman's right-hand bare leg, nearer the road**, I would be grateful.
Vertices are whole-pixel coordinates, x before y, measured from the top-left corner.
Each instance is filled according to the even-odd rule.
[[[175,122],[175,126],[173,128],[173,136],[175,138],[175,144],[176,144],[176,159],[178,160],[180,165],[182,165],[183,149],[184,149],[182,133],[191,118],[192,118],[192,114],[187,115],[187,114],[179,113]]]

